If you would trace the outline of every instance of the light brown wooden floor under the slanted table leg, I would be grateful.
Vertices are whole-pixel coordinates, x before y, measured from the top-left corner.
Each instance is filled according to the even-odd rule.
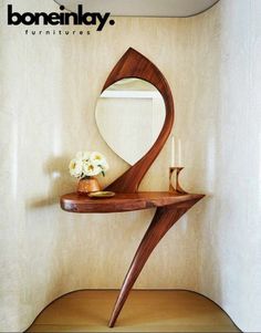
[[[49,305],[28,332],[240,332],[210,300],[188,291],[132,291],[114,329],[117,291],[77,291]]]

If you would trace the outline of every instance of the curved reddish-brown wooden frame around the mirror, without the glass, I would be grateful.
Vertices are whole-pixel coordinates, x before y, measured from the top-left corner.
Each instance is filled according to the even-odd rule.
[[[129,48],[108,75],[102,93],[122,79],[136,77],[152,83],[161,94],[166,117],[164,126],[153,147],[127,171],[114,180],[106,190],[136,192],[145,174],[164,147],[174,125],[174,100],[167,80],[158,67],[136,50]]]

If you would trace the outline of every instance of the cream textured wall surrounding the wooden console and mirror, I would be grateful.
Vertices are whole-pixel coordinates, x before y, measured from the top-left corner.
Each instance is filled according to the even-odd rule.
[[[56,10],[51,0],[2,0],[3,14],[6,3],[21,11]],[[176,104],[174,132],[182,139],[184,185],[209,195],[169,231],[136,287],[200,291],[242,329],[260,329],[260,7],[221,1],[189,19],[118,18],[88,37],[25,37],[3,17],[1,330],[24,330],[69,291],[118,288],[152,219],[153,210],[73,215],[58,204],[75,188],[67,175],[75,152],[107,156],[106,184],[127,168],[100,136],[94,112],[105,79],[128,46],[166,75]],[[142,189],[166,189],[168,163],[166,147]]]

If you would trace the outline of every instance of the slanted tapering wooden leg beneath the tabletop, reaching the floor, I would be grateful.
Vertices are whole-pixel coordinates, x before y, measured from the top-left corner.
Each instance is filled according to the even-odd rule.
[[[137,280],[142,269],[144,268],[148,257],[165,236],[165,233],[173,227],[173,225],[190,208],[197,200],[186,201],[181,205],[159,207],[148,227],[138,249],[133,259],[133,262],[125,277],[123,287],[121,289],[117,301],[108,322],[108,326],[113,327],[123,309],[123,305]]]

